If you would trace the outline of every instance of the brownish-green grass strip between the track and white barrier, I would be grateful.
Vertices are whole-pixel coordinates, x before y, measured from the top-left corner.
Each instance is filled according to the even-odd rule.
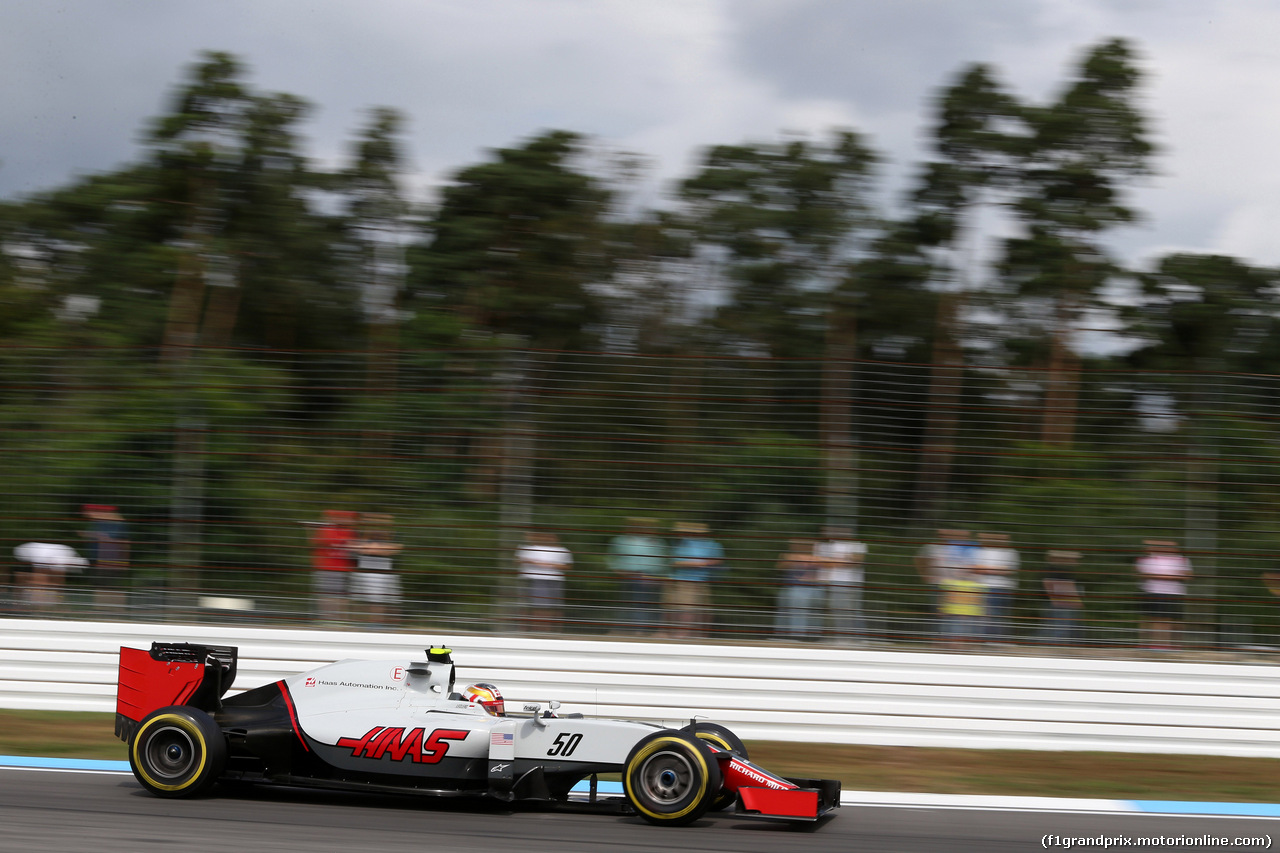
[[[0,754],[125,760],[110,713],[0,711]],[[838,779],[847,790],[1272,803],[1280,760],[1027,749],[748,744],[788,776]]]

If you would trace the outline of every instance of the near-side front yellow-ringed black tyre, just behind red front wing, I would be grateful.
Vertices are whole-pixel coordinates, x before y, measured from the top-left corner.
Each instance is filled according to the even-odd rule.
[[[707,813],[721,793],[719,762],[689,731],[655,731],[631,748],[622,790],[644,820],[685,826]]]

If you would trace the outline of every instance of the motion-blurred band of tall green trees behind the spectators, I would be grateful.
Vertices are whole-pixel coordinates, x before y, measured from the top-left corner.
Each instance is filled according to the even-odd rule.
[[[947,519],[1036,547],[1111,524],[1108,565],[1143,524],[1270,553],[1270,510],[1221,480],[1261,497],[1247,459],[1280,438],[1239,375],[1277,371],[1277,272],[1115,257],[1156,152],[1140,85],[1119,40],[1043,104],[975,65],[901,200],[832,128],[708,145],[650,207],[635,158],[570,129],[416,199],[406,117],[321,165],[308,104],[206,54],[137,163],[0,205],[0,537],[114,496],[183,584],[305,566],[282,525],[329,505],[408,503],[424,584],[500,561],[512,519],[599,566],[632,512],[732,532],[746,578],[824,520],[902,583]],[[1176,506],[1134,497],[1155,482]]]

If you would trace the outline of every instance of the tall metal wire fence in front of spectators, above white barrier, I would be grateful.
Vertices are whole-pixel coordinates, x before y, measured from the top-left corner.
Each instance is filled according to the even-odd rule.
[[[4,606],[849,644],[1268,646],[1277,382],[481,346],[3,348]],[[346,514],[360,547],[334,549],[366,560],[330,584],[317,538]],[[113,530],[127,553],[104,547]],[[623,534],[668,557],[620,557]],[[366,547],[378,540],[392,544]],[[718,562],[675,565],[708,542]],[[24,558],[28,543],[88,565]],[[521,562],[554,575],[563,556],[531,569],[530,553],[557,547],[572,561],[562,585],[522,576]],[[991,583],[989,548],[1016,556],[1012,585]],[[1185,594],[1144,588],[1135,566],[1152,549],[1185,557]],[[644,565],[652,580],[630,574]],[[1061,576],[1070,597],[1055,593]]]

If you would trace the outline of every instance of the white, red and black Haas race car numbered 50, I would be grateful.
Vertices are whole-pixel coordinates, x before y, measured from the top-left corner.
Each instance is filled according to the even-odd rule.
[[[227,697],[237,649],[154,643],[122,648],[115,734],[157,797],[197,797],[219,781],[337,788],[500,802],[567,802],[621,774],[625,799],[650,824],[708,811],[813,822],[840,804],[840,783],[783,779],[748,760],[712,722],[648,722],[507,713],[500,692],[454,692],[451,651],[425,661],[339,661]]]

